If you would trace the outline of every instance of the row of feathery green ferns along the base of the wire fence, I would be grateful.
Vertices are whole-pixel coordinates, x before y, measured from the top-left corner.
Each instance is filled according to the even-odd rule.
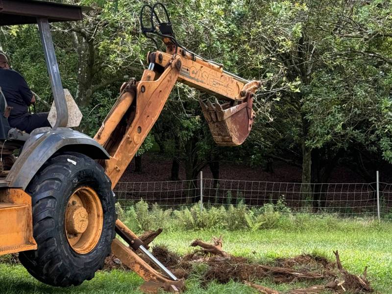
[[[170,229],[173,223],[175,227],[187,230],[216,228],[256,231],[261,228],[277,227],[281,219],[288,217],[282,213],[290,213],[290,209],[279,201],[276,205],[265,204],[258,209],[249,209],[243,201],[240,201],[238,205],[230,204],[227,209],[221,205],[201,210],[200,204],[197,203],[180,210],[163,210],[157,204],[149,207],[142,199],[127,208],[122,215],[128,225],[139,231],[159,227]]]

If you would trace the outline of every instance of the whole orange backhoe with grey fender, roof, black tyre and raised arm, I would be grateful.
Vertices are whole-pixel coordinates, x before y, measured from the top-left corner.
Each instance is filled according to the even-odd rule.
[[[176,82],[216,97],[200,101],[215,142],[241,145],[253,123],[252,101],[260,81],[248,81],[223,70],[177,42],[166,8],[143,6],[142,32],[166,51],[149,52],[140,81],[124,83],[121,95],[94,139],[69,127],[67,104],[49,22],[80,21],[85,7],[34,0],[1,0],[0,25],[38,24],[56,110],[52,127],[30,134],[11,128],[0,91],[2,158],[20,149],[10,170],[0,173],[0,254],[19,253],[27,271],[53,286],[79,285],[94,277],[112,252],[146,282],[142,290],[179,293],[177,279],[143,246],[115,213],[112,192],[161,113]],[[160,21],[157,9],[163,11]],[[148,12],[148,13],[147,13]],[[148,27],[143,16],[149,17]],[[218,99],[226,101],[221,104]],[[11,110],[12,111],[12,110]],[[116,238],[116,234],[124,242]],[[127,245],[124,245],[127,244]],[[160,271],[151,268],[142,252]]]

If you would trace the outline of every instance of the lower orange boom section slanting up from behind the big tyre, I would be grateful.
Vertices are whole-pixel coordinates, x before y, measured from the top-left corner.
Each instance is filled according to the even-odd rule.
[[[110,146],[104,145],[110,154],[110,159],[105,160],[104,165],[105,172],[112,181],[112,188],[116,186],[126,167],[146,139],[169,98],[169,94],[172,92],[179,74],[176,67],[176,61],[179,58],[180,56],[174,58],[171,66],[167,67],[156,80],[148,79],[148,74],[152,71],[146,70],[147,72],[143,74],[142,80],[136,85],[135,109],[128,112],[127,122],[123,125],[123,129],[121,129],[121,126],[115,125],[115,123],[112,124],[112,128],[117,128],[118,131],[113,130],[111,138],[107,139],[107,141],[111,139],[112,144]],[[144,92],[142,92],[142,87],[145,89]],[[133,101],[135,95],[131,92],[128,93],[132,96],[130,100]],[[122,99],[122,97],[119,99]],[[117,108],[118,106],[111,110],[105,121],[120,122],[117,114],[120,111]],[[126,111],[128,110],[126,109]],[[104,129],[105,126],[98,131],[95,137],[96,140],[99,134],[102,137]],[[99,143],[103,142],[102,139],[97,141]]]

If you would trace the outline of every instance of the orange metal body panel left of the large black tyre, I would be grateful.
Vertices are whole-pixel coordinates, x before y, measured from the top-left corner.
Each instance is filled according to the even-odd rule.
[[[0,190],[0,255],[37,249],[31,197],[20,189]]]

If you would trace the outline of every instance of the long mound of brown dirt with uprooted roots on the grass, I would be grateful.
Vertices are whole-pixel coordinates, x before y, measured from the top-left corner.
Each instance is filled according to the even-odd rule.
[[[309,281],[311,284],[319,281],[316,286],[296,289],[289,294],[318,294],[318,293],[370,293],[372,288],[366,276],[366,269],[361,276],[348,273],[343,269],[338,251],[336,262],[322,256],[302,254],[291,258],[276,259],[272,265],[263,265],[245,257],[232,256],[222,250],[222,238],[213,238],[211,244],[196,240],[191,246],[198,246],[193,253],[184,257],[169,250],[165,245],[156,245],[152,254],[177,278],[187,278],[195,264],[204,264],[207,270],[202,277],[202,284],[211,281],[226,284],[231,280],[242,282],[260,293],[279,294],[278,291],[252,283],[254,280],[269,278],[274,283],[293,283]],[[143,254],[139,254],[152,268],[158,270]],[[129,270],[121,264],[114,255],[105,260],[104,270]]]

